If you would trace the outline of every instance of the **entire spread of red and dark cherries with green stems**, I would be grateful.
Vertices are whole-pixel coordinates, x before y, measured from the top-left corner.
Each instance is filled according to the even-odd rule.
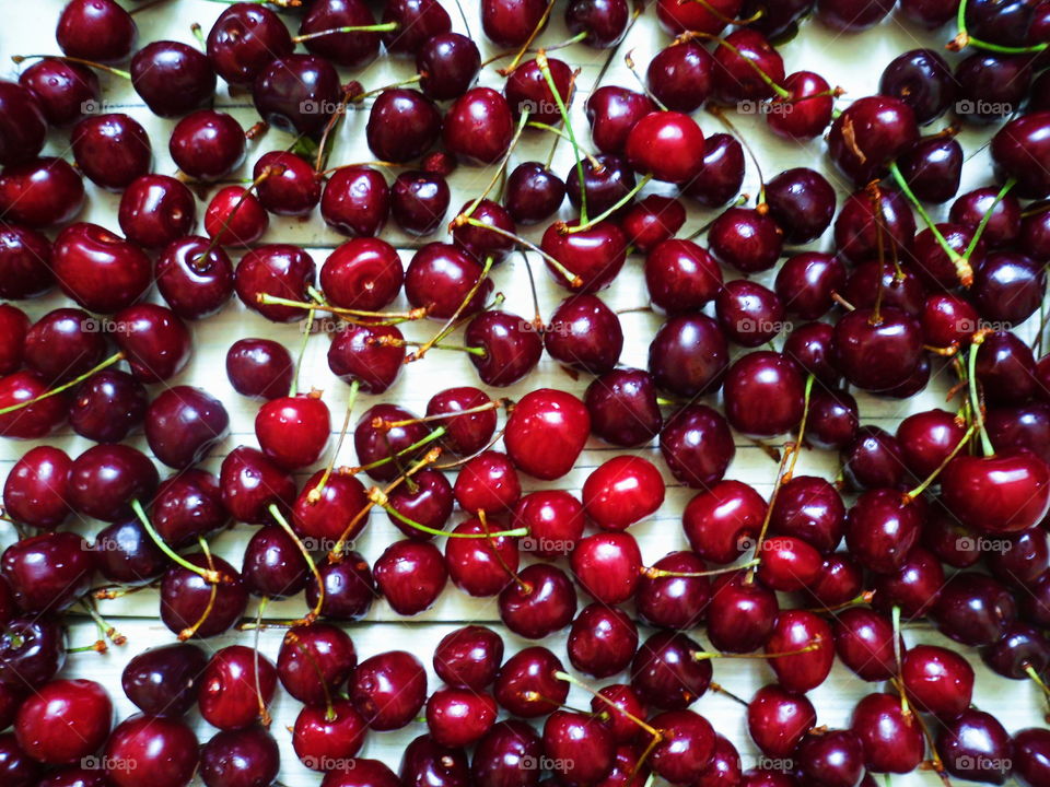
[[[277,785],[279,686],[301,703],[291,744],[323,787],[873,787],[917,770],[945,785],[1050,785],[1050,730],[1008,730],[976,707],[960,655],[976,648],[995,676],[1050,697],[1050,2],[482,0],[502,52],[486,62],[438,0],[387,0],[378,20],[363,0],[237,2],[199,47],[140,46],[132,14],[156,4],[70,0],[62,54],[16,57],[18,82],[0,81],[0,297],[57,287],[71,302],[35,321],[0,304],[0,435],[40,441],[68,424],[94,443],[75,458],[39,444],[3,484],[3,787]],[[572,37],[545,49],[551,13]],[[775,46],[800,25],[854,34],[890,13],[947,46],[901,54],[874,95],[789,73]],[[611,62],[642,14],[673,38],[643,70],[627,56],[639,84],[603,84],[602,71],[588,144],[570,120],[579,74],[550,52],[584,46]],[[416,75],[348,78],[381,51],[413,57]],[[172,119],[176,173],[153,172],[155,140],[105,111],[100,74]],[[220,79],[250,94],[258,124],[211,108]],[[355,106],[376,161],[340,164]],[[724,131],[701,131],[701,107]],[[744,109],[779,137],[826,137],[841,204],[807,167],[740,195]],[[960,126],[988,129],[994,163],[962,195]],[[567,171],[517,162],[524,134],[571,148]],[[68,139],[73,163],[42,155],[48,139]],[[236,180],[249,149],[272,150]],[[460,165],[491,179],[453,212]],[[78,221],[84,178],[120,193],[122,235]],[[690,203],[718,214],[686,231]],[[303,248],[260,243],[271,214],[318,204],[348,236],[319,272]],[[427,238],[407,268],[380,237],[387,222]],[[538,243],[521,234],[534,225]],[[528,255],[510,262],[516,249]],[[620,364],[620,316],[597,295],[631,255],[664,318],[644,369]],[[529,259],[565,298],[515,315],[493,277]],[[226,373],[260,401],[258,447],[230,450],[217,475],[202,463],[229,413],[175,381],[187,324],[234,294],[328,334],[350,403],[334,430],[322,395],[299,389],[301,357],[237,338]],[[407,340],[409,322],[430,339]],[[383,400],[440,351],[466,353],[483,386],[440,390],[424,414]],[[590,375],[582,399],[491,391],[527,386],[545,351]],[[946,409],[894,434],[862,425],[851,389],[907,400],[935,375],[957,380]],[[359,395],[376,397],[361,414]],[[140,428],[152,456],[124,443]],[[351,432],[358,465],[336,467]],[[734,433],[780,462],[769,500],[725,478]],[[628,453],[573,494],[563,479],[592,437]],[[665,482],[633,449],[654,441],[696,493],[681,513],[690,549],[648,565],[630,529],[664,504]],[[840,475],[796,474],[810,449],[837,451]],[[544,488],[526,493],[523,475]],[[404,538],[370,563],[353,543],[374,516]],[[101,524],[85,538],[74,517]],[[240,566],[209,545],[235,524],[253,528]],[[418,614],[450,582],[497,599],[506,631],[535,644],[504,658],[497,631],[452,631],[433,654],[440,686],[410,653],[359,660],[346,624],[380,597]],[[66,615],[100,626],[73,650],[126,645],[97,607],[147,588],[177,642],[130,660],[121,688],[140,713],[114,726],[102,685],[59,677]],[[265,616],[300,594],[299,619]],[[906,643],[903,624],[921,621],[943,644]],[[265,627],[283,630],[276,663],[258,650]],[[255,645],[201,647],[232,630]],[[564,654],[541,644],[563,631]],[[736,697],[712,681],[728,657],[762,660],[771,682]],[[807,697],[836,657],[872,684],[843,729]],[[571,686],[588,708],[565,705]],[[709,692],[745,706],[756,767],[695,705]],[[194,707],[218,730],[202,745]],[[358,756],[420,717],[398,773]]]

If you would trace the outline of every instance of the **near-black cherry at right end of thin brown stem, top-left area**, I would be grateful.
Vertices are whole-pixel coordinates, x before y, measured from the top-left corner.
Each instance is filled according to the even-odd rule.
[[[154,115],[179,117],[209,104],[215,72],[199,49],[174,40],[147,44],[131,58],[131,84]]]

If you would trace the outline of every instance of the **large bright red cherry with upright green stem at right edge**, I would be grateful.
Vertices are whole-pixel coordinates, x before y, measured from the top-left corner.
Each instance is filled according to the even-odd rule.
[[[994,457],[958,456],[941,475],[948,509],[971,527],[994,533],[1027,530],[1050,506],[1046,462],[1026,450]],[[980,501],[980,515],[969,508]]]

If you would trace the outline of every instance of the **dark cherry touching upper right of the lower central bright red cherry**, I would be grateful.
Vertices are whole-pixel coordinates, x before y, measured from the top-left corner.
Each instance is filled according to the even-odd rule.
[[[721,481],[736,447],[725,419],[705,404],[689,404],[660,433],[660,450],[672,474],[690,489]]]

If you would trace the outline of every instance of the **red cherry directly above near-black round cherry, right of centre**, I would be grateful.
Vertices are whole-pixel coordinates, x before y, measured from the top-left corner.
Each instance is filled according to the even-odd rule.
[[[703,247],[670,238],[645,256],[645,284],[654,306],[677,315],[713,301],[722,286],[722,270]]]

